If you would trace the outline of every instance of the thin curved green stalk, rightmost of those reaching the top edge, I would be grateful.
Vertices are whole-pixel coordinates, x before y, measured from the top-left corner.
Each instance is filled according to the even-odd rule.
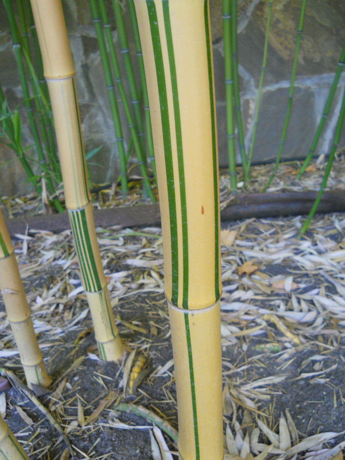
[[[304,22],[304,14],[305,14],[305,11],[306,11],[306,3],[307,3],[307,0],[302,0],[300,22],[298,24],[298,29],[297,29],[297,40],[296,40],[296,47],[295,47],[295,53],[294,53],[294,57],[293,57],[293,64],[292,64],[288,107],[287,107],[287,111],[286,111],[286,116],[285,116],[285,121],[284,121],[284,126],[283,126],[282,137],[281,137],[281,141],[280,141],[280,145],[279,145],[279,150],[278,150],[278,154],[277,154],[277,159],[275,160],[275,165],[274,165],[274,168],[273,168],[273,172],[272,172],[271,176],[269,177],[265,187],[262,189],[263,192],[265,192],[265,190],[267,190],[268,187],[270,186],[270,183],[272,182],[272,180],[273,180],[273,178],[275,176],[275,173],[278,170],[278,166],[279,166],[280,159],[281,159],[282,152],[283,152],[286,132],[287,132],[287,128],[288,128],[289,121],[290,121],[290,113],[291,113],[291,107],[292,107],[292,99],[293,99],[293,93],[294,93],[294,83],[295,83],[296,68],[297,68],[297,61],[298,61],[298,53],[300,52],[300,43],[301,43],[301,37],[302,37],[302,32],[303,32],[303,22]]]

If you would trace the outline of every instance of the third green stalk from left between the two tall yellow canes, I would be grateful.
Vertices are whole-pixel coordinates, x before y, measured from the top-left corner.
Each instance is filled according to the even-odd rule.
[[[129,87],[129,95],[130,95],[130,99],[131,99],[132,107],[133,107],[135,125],[137,128],[137,131],[139,132],[139,139],[142,145],[142,149],[145,152],[145,137],[144,137],[143,121],[142,121],[142,116],[140,113],[139,97],[138,97],[137,90],[136,90],[132,61],[129,55],[126,28],[125,28],[125,23],[123,20],[123,15],[122,15],[122,5],[119,2],[119,0],[111,0],[111,3],[112,3],[113,11],[114,11],[114,16],[115,16],[115,22],[116,22],[116,27],[117,27],[121,54],[123,56],[123,60],[125,64],[125,72],[126,72],[126,78],[127,78],[128,87]]]

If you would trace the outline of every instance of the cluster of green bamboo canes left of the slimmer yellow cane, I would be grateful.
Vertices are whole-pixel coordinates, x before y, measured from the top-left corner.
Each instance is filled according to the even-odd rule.
[[[35,148],[36,148],[36,152],[37,152],[37,156],[38,156],[38,164],[39,164],[39,167],[41,169],[41,176],[46,181],[48,191],[49,191],[50,195],[53,197],[52,200],[51,200],[53,205],[55,206],[57,211],[62,212],[63,208],[61,206],[61,203],[56,198],[56,196],[54,197],[54,195],[55,195],[55,186],[58,185],[59,180],[61,178],[61,175],[59,173],[59,169],[58,169],[58,166],[57,166],[58,163],[57,163],[57,155],[56,155],[55,147],[54,147],[53,151],[51,150],[52,145],[54,144],[54,142],[52,142],[52,143],[48,142],[48,139],[49,139],[49,136],[50,136],[50,135],[48,135],[49,127],[47,126],[47,124],[48,124],[48,114],[47,114],[47,112],[45,114],[43,114],[44,110],[42,111],[42,107],[43,107],[42,106],[42,101],[39,101],[39,98],[37,97],[37,91],[36,91],[37,77],[34,79],[33,74],[32,74],[33,66],[32,66],[32,62],[31,62],[31,58],[30,58],[30,47],[29,47],[29,41],[28,41],[28,30],[27,30],[27,25],[26,25],[26,21],[25,21],[24,6],[21,4],[21,2],[19,2],[19,4],[18,4],[19,5],[18,11],[19,11],[19,18],[20,18],[20,28],[19,28],[18,25],[16,24],[16,21],[15,21],[12,2],[10,2],[9,0],[3,0],[3,2],[4,2],[4,5],[5,5],[6,12],[7,12],[7,17],[8,17],[8,20],[9,20],[9,26],[10,26],[10,31],[11,31],[12,41],[13,41],[13,50],[14,50],[14,55],[15,55],[18,71],[19,71],[20,84],[21,84],[22,93],[23,93],[23,97],[24,97],[24,105],[25,105],[27,116],[28,116],[32,136],[34,138]],[[21,31],[21,33],[24,33],[24,38],[20,34],[20,31]],[[27,64],[28,64],[28,61],[30,61],[30,63],[31,63],[31,65],[28,66],[28,68],[29,68],[29,73],[31,74],[31,77],[32,77],[32,79],[31,79],[32,85],[31,86],[32,86],[32,91],[33,91],[33,95],[34,95],[34,100],[35,100],[36,108],[38,109],[38,113],[39,113],[38,118],[39,118],[40,130],[37,127],[35,114],[34,114],[33,109],[32,109],[31,96],[30,96],[30,90],[29,90],[29,86],[28,86],[28,82],[27,82],[24,61],[26,61]],[[3,94],[2,94],[2,99],[4,99]],[[2,106],[4,106],[4,104],[2,104]],[[3,125],[5,128],[9,127],[9,129],[10,129],[10,132],[6,133],[7,137],[12,137],[12,132],[11,132],[10,125],[11,125],[10,123],[5,123],[5,125]],[[17,126],[17,128],[20,129],[20,120],[19,119],[18,119],[18,121],[16,121],[16,126]],[[45,153],[44,153],[43,148],[42,148],[41,137],[42,137],[43,142],[45,144]],[[20,136],[18,134],[18,131],[17,131],[17,136],[16,136],[15,140],[16,140],[16,143],[13,144],[11,142],[10,146],[11,146],[11,144],[13,144],[16,147],[16,149],[14,149],[14,150],[15,150],[17,156],[18,156],[18,151],[20,151],[20,156],[23,159],[26,160],[27,164],[29,164],[28,160],[26,158],[27,154],[26,154],[25,149],[22,146],[20,146],[20,148],[18,148],[18,142],[19,141],[21,142],[21,139],[20,139]],[[21,164],[24,164],[24,163],[25,162],[23,162],[21,160]],[[29,173],[29,178],[31,179],[32,174],[31,174],[29,168],[26,167],[25,171],[27,173]],[[54,183],[55,183],[55,185],[54,185]],[[36,191],[38,191],[37,186],[35,188],[36,188]]]

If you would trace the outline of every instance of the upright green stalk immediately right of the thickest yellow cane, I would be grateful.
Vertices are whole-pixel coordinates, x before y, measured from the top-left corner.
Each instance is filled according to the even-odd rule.
[[[232,64],[231,0],[223,0],[224,77],[226,98],[226,140],[232,193],[237,193],[236,150],[234,133],[234,78]]]

